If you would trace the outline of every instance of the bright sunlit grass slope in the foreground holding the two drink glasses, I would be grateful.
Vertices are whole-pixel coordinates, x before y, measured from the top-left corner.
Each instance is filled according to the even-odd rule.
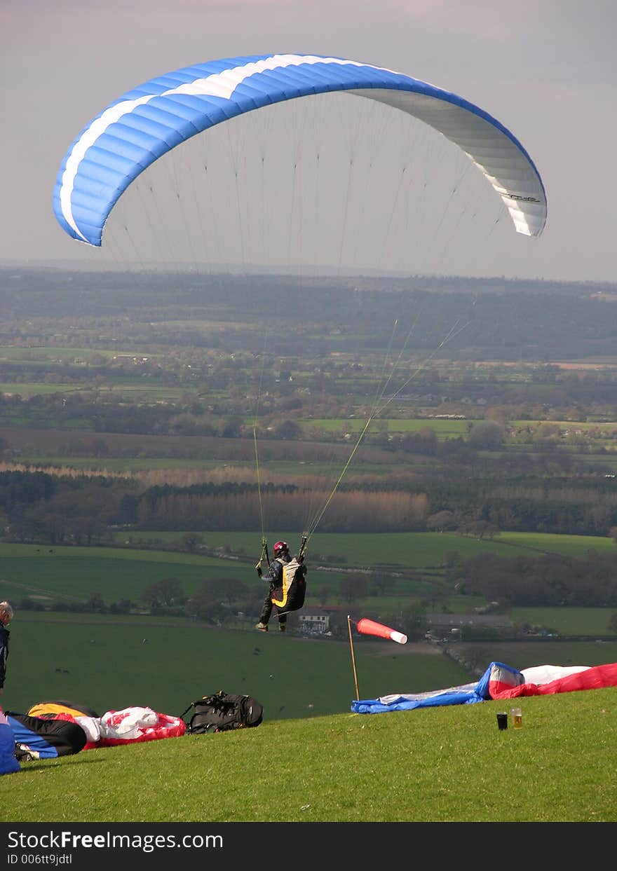
[[[0,820],[217,823],[207,830],[230,848],[240,847],[225,822],[617,820],[617,690],[519,706],[523,728],[505,732],[499,701],[279,721],[267,709],[256,729],[25,763],[3,778]],[[275,832],[260,831],[274,847]],[[348,856],[376,837],[345,834]]]

